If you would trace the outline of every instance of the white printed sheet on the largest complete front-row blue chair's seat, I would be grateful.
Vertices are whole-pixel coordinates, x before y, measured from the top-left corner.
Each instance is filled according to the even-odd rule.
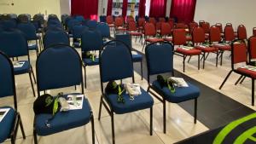
[[[69,110],[78,110],[83,108],[84,95],[67,95]]]

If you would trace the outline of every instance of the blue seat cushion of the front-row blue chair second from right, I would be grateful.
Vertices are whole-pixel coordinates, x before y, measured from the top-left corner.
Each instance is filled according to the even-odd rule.
[[[149,107],[153,107],[154,100],[144,89],[141,89],[142,95],[134,96],[134,100],[130,100],[128,94],[123,94],[125,103],[119,103],[117,101],[118,95],[106,95],[108,104],[113,108],[113,112],[117,114],[123,114],[128,112],[135,112],[143,110]]]

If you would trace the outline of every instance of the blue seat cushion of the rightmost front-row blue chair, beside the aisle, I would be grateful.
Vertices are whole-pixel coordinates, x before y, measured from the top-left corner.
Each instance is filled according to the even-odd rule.
[[[200,95],[200,89],[193,84],[189,84],[189,87],[175,87],[174,93],[167,87],[161,88],[157,80],[152,83],[152,86],[165,97],[166,101],[172,103],[193,100]]]

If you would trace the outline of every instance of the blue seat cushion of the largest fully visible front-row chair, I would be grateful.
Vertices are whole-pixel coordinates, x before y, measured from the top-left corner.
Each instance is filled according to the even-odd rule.
[[[67,97],[67,95],[64,96]],[[35,126],[38,135],[51,135],[88,124],[91,118],[90,104],[87,99],[84,98],[82,109],[57,112],[54,118],[49,121],[50,127],[48,128],[45,122],[51,117],[51,114],[36,115]]]

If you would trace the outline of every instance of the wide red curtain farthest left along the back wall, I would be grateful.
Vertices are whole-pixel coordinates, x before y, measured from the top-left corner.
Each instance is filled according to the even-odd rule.
[[[71,14],[83,15],[85,19],[97,20],[98,0],[72,0]]]

